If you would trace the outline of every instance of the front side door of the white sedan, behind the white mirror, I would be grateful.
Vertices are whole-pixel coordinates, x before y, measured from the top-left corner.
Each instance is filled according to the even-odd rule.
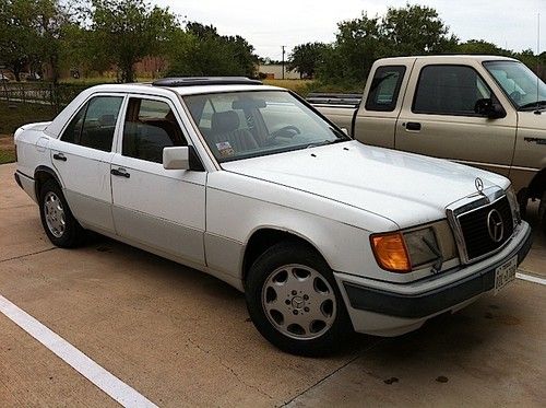
[[[116,233],[204,265],[205,172],[165,170],[163,149],[187,145],[170,101],[130,96],[111,160]]]

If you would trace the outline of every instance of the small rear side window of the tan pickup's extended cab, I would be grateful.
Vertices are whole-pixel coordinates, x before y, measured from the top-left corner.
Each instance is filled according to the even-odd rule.
[[[371,80],[366,110],[394,110],[405,71],[404,66],[379,67]]]

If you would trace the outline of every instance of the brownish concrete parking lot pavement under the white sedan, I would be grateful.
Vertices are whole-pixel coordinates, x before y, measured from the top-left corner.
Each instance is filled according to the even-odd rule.
[[[544,284],[517,279],[412,334],[298,358],[215,278],[104,237],[55,248],[13,172],[0,166],[2,407],[544,406]],[[538,232],[520,273],[546,277]]]

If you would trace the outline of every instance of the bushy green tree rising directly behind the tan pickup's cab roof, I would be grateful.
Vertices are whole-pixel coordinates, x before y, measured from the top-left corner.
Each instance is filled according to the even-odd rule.
[[[389,8],[381,32],[393,56],[452,53],[458,44],[435,9],[410,3],[401,9]]]

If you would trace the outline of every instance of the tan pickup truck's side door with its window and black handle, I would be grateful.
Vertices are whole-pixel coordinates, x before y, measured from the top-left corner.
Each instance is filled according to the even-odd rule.
[[[478,100],[500,101],[492,84],[475,67],[417,60],[396,121],[395,148],[455,160],[508,176],[515,141],[517,116],[502,118],[475,112]],[[503,98],[502,98],[503,100]]]

